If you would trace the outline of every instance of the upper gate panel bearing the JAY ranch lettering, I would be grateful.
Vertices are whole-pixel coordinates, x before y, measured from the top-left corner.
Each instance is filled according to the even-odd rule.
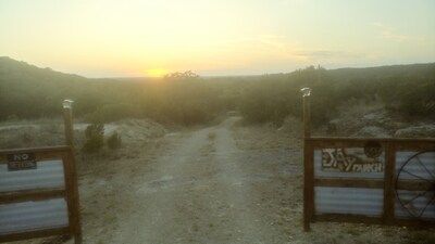
[[[385,153],[368,158],[362,147],[314,150],[314,178],[382,179]]]

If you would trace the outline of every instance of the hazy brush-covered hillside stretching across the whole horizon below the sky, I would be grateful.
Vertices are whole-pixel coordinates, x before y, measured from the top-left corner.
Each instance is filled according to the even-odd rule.
[[[186,74],[186,76],[184,76]],[[61,101],[75,101],[86,120],[125,117],[195,125],[237,110],[248,123],[282,125],[301,114],[300,88],[312,92],[313,121],[325,124],[352,100],[381,100],[408,117],[435,118],[435,63],[368,68],[307,67],[288,74],[247,77],[88,79],[0,57],[0,120],[59,115]]]

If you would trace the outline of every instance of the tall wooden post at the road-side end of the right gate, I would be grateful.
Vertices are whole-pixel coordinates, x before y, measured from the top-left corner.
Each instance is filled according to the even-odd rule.
[[[310,138],[310,88],[302,88],[303,92],[303,231],[310,231],[313,208],[313,179],[312,179],[312,150],[307,145]]]

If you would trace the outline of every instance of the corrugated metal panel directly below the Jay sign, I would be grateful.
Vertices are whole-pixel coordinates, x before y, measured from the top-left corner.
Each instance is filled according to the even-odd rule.
[[[382,216],[383,198],[383,189],[314,188],[316,215],[349,214]]]

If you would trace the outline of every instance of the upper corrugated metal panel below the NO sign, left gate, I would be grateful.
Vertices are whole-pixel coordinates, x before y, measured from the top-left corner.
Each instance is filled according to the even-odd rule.
[[[0,165],[0,192],[64,187],[62,160],[40,160],[36,169],[17,171],[8,171],[8,165]]]

